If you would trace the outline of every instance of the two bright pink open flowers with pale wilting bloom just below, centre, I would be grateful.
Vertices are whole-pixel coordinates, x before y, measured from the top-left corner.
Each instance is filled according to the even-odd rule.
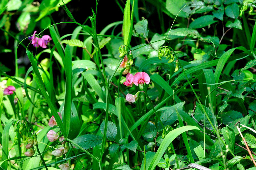
[[[126,81],[123,83],[127,87],[132,87],[133,84],[136,86],[139,86],[139,84],[142,86],[144,83],[149,84],[150,82],[150,77],[147,73],[145,72],[138,72],[135,75],[132,75],[131,73],[128,73],[126,75]],[[143,92],[143,91],[140,91]],[[135,101],[138,100],[139,93],[137,92],[135,95],[133,94],[127,94],[125,99],[131,103],[134,103]]]

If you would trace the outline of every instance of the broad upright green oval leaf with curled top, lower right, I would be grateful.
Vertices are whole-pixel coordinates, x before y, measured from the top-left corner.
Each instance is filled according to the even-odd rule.
[[[226,126],[224,128],[221,129],[222,135],[225,139],[226,144],[228,145],[228,148],[234,152],[235,149],[235,132],[233,129],[231,129],[230,127]]]

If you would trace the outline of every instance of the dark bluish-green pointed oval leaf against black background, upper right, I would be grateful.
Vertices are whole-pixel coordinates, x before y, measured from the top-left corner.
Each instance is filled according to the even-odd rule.
[[[197,19],[195,19],[193,22],[189,24],[189,28],[202,28],[205,26],[208,26],[210,24],[213,24],[217,21],[213,20],[214,16],[213,15],[205,15],[201,16]]]

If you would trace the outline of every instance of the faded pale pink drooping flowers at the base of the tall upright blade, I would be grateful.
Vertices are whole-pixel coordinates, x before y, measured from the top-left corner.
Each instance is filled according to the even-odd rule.
[[[60,119],[62,120],[62,116],[61,116],[60,112],[58,112],[58,115],[59,115]],[[55,120],[53,115],[51,116],[51,118],[50,118],[50,120],[48,122],[48,125],[50,127],[53,127],[53,126],[57,125],[57,122],[56,122],[56,120]],[[54,142],[54,141],[57,141],[59,139],[59,142],[61,142],[61,144],[62,144],[60,148],[55,149],[55,150],[52,151],[52,154],[54,156],[61,156],[63,154],[66,154],[67,151],[69,150],[69,146],[65,145],[66,144],[66,140],[65,140],[64,136],[60,137],[60,134],[61,134],[61,132],[56,133],[53,130],[50,130],[47,133],[47,138],[49,139],[50,142]]]

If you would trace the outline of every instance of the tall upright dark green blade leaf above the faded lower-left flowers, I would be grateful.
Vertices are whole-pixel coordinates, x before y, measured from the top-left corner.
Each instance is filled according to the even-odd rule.
[[[65,96],[64,96],[64,116],[63,123],[67,135],[69,135],[71,123],[71,101],[72,101],[72,57],[69,49],[69,44],[65,48]]]

